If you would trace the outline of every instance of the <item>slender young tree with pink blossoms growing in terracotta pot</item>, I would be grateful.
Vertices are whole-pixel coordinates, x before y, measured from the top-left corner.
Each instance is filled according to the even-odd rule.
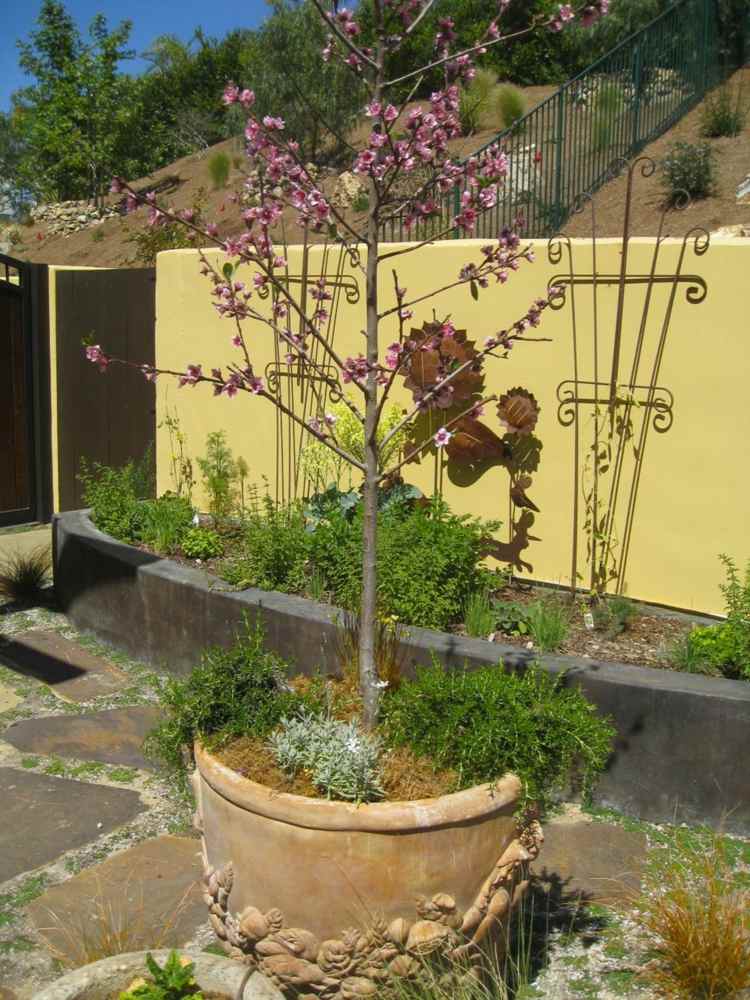
[[[313,438],[363,477],[359,669],[364,721],[372,726],[377,717],[379,694],[374,656],[379,486],[405,462],[418,458],[429,448],[450,449],[462,439],[470,452],[473,449],[486,454],[497,448],[499,439],[478,419],[484,408],[496,400],[494,395],[484,394],[485,359],[507,357],[516,342],[528,340],[529,329],[538,325],[548,304],[546,299],[537,299],[523,316],[506,329],[498,330],[481,347],[469,341],[463,331],[457,331],[449,319],[436,319],[420,329],[407,328],[415,307],[448,289],[466,285],[476,298],[490,283],[505,282],[524,262],[533,260],[531,248],[523,246],[515,232],[498,234],[452,281],[425,294],[410,295],[400,284],[394,265],[399,257],[448,236],[454,228],[470,236],[479,214],[495,204],[508,174],[508,159],[497,145],[465,162],[457,162],[449,155],[449,141],[460,135],[459,84],[472,78],[475,59],[490,46],[507,43],[535,28],[560,31],[575,20],[590,24],[606,13],[608,0],[592,0],[575,8],[563,4],[546,20],[537,20],[524,31],[512,34],[503,32],[503,13],[511,0],[488,3],[487,7],[494,10],[488,14],[487,23],[478,27],[476,43],[458,51],[454,45],[453,21],[441,17],[436,22],[434,58],[429,65],[395,77],[389,76],[390,57],[431,14],[435,0],[372,0],[373,47],[361,44],[355,14],[346,8],[339,9],[337,0],[332,0],[330,9],[326,9],[327,0],[312,2],[328,31],[322,58],[340,60],[364,83],[369,95],[365,114],[372,123],[371,130],[364,148],[352,150],[353,170],[367,184],[365,223],[361,227],[352,223],[326,197],[315,171],[303,162],[297,143],[287,137],[284,120],[272,115],[259,120],[253,115],[253,91],[229,84],[224,93],[225,104],[239,105],[248,115],[245,138],[249,169],[239,202],[245,230],[236,238],[221,240],[214,224],[199,227],[189,213],[182,217],[182,222],[202,240],[220,247],[226,257],[218,266],[201,253],[201,269],[213,285],[219,314],[233,324],[232,344],[237,350],[237,360],[224,369],[206,370],[202,364],[191,363],[182,372],[157,370],[147,365],[142,366],[142,371],[150,380],[159,375],[173,376],[181,386],[206,383],[216,395],[235,397],[238,393],[249,393],[268,400],[290,420],[303,423],[256,372],[252,341],[247,335],[252,325],[255,329],[265,329],[279,342],[289,365],[298,366],[302,373],[337,393],[342,384],[355,390],[353,399],[343,395],[343,400],[363,426],[363,459],[342,446],[333,414],[321,412],[305,426]],[[411,86],[409,96],[413,97],[419,92],[423,74],[436,68],[442,70],[445,84],[425,104],[413,106],[406,100],[397,106],[389,102],[389,91],[396,87],[403,91],[405,84]],[[405,135],[397,132],[397,123]],[[413,226],[418,221],[439,217],[436,196],[455,189],[460,192],[459,211],[442,232],[407,246],[381,246],[381,228],[391,218],[402,216],[407,226]],[[125,193],[128,209],[134,210],[141,201],[145,202],[152,225],[178,218],[160,207],[153,194],[141,197],[119,179],[114,180],[112,190]],[[343,246],[352,267],[364,278],[365,350],[356,357],[341,357],[326,337],[329,318],[326,305],[331,293],[325,278],[314,284],[311,306],[306,306],[305,300],[295,295],[284,280],[285,248],[275,236],[282,214],[288,209],[296,213],[306,230],[322,232]],[[393,279],[393,298],[386,303],[381,301],[378,290],[383,267],[388,268]],[[257,295],[265,295],[269,289],[273,297],[270,307],[266,307],[258,302]],[[398,324],[398,337],[381,358],[381,324],[394,320]],[[315,354],[314,345],[317,345]],[[110,358],[100,345],[89,345],[86,350],[89,360],[102,370],[120,360]],[[412,392],[413,404],[385,435],[379,435],[383,409],[398,377],[404,379],[406,388]],[[389,454],[392,437],[405,428],[419,427],[419,418],[430,411],[444,414],[437,432],[422,435],[421,439],[415,434],[412,444],[405,449],[406,454],[389,460],[388,467],[384,467],[381,456]],[[511,390],[500,399],[498,416],[506,429],[530,430],[536,421],[533,397],[521,389]],[[523,481],[519,485],[523,491]]]

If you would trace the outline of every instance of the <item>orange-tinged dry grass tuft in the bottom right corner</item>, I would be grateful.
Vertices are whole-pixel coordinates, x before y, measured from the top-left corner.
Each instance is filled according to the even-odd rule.
[[[673,1000],[729,1000],[750,987],[750,893],[721,837],[669,863],[660,881],[641,903],[657,953],[645,975]]]

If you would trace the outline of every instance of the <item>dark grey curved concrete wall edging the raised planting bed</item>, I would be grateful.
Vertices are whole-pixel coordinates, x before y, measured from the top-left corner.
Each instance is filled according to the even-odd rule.
[[[189,673],[205,646],[228,645],[246,612],[259,614],[268,646],[298,668],[335,667],[340,612],[331,605],[222,589],[216,577],[115,541],[86,511],[55,515],[53,553],[57,598],[77,628],[176,675]],[[517,646],[411,627],[403,648],[410,667],[433,655],[447,667],[537,659]],[[750,835],[750,683],[575,656],[538,659],[614,719],[618,736],[597,805]]]

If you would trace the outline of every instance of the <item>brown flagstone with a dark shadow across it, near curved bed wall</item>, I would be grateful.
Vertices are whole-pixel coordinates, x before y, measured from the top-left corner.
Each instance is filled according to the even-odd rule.
[[[57,632],[32,629],[0,645],[0,661],[48,684],[66,701],[88,701],[112,694],[127,674]]]

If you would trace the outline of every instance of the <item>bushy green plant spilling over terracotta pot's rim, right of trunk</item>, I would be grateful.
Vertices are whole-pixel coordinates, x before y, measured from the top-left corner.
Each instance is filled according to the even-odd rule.
[[[571,781],[586,794],[614,737],[611,722],[578,688],[542,670],[446,671],[436,664],[386,692],[382,731],[388,745],[454,770],[461,788],[513,771],[524,802],[541,805]]]

